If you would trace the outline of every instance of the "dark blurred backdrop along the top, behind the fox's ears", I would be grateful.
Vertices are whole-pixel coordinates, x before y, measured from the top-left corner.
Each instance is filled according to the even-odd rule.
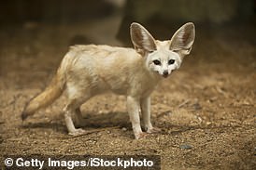
[[[167,38],[187,21],[205,25],[208,32],[228,24],[255,24],[255,8],[255,0],[1,0],[0,23],[31,32],[54,24],[66,32],[69,44],[119,45],[129,43],[133,21]]]

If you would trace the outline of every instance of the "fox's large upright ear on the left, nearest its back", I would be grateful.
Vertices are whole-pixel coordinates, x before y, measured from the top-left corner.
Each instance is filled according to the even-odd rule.
[[[142,25],[133,22],[130,27],[130,34],[138,53],[144,55],[145,52],[156,50],[153,36]]]

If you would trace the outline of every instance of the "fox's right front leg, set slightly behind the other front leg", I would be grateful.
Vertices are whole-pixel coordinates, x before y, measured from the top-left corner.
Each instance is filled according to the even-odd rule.
[[[143,124],[147,133],[156,133],[161,131],[161,129],[153,127],[150,121],[150,97],[142,98],[140,103]]]

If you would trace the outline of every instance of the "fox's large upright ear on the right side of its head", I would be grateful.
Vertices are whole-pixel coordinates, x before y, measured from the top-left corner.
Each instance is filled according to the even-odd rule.
[[[170,49],[180,52],[182,55],[190,54],[195,37],[194,25],[192,22],[184,24],[174,33],[171,39]]]

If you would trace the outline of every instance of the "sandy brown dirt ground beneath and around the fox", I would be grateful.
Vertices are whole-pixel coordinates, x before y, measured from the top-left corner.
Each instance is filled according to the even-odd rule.
[[[91,42],[81,34],[86,29],[0,28],[0,156],[145,154],[161,155],[164,170],[256,168],[255,24],[198,26],[192,55],[152,94],[159,134],[135,140],[125,97],[113,94],[82,106],[83,128],[91,132],[85,136],[67,136],[64,97],[22,123],[23,106],[48,85],[67,46]]]

